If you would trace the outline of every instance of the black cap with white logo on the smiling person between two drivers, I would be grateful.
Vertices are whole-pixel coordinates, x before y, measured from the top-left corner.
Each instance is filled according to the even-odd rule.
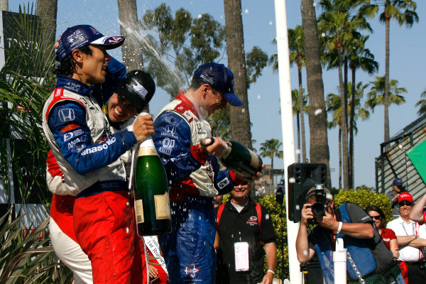
[[[117,94],[129,100],[136,111],[141,112],[155,93],[155,82],[151,75],[142,70],[132,70],[121,82]]]

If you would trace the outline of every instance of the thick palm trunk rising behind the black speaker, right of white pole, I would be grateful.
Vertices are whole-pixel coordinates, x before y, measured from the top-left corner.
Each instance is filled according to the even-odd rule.
[[[327,113],[324,102],[324,84],[320,60],[317,17],[313,0],[302,0],[302,28],[305,45],[307,92],[309,94],[310,162],[327,165],[327,179],[332,186],[329,171]],[[320,113],[318,113],[321,111]]]

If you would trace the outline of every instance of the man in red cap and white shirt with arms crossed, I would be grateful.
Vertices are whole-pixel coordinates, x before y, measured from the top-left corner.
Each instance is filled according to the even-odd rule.
[[[400,252],[398,262],[401,270],[408,270],[410,284],[425,283],[426,279],[426,225],[410,219],[413,201],[410,193],[401,192],[398,197],[400,217],[386,226],[395,231]]]

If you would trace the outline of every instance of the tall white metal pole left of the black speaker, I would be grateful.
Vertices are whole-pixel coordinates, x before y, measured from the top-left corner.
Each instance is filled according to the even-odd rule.
[[[278,76],[280,79],[281,128],[283,131],[284,175],[288,180],[287,168],[295,163],[295,138],[293,132],[293,104],[291,100],[290,60],[288,58],[287,12],[285,0],[275,0],[275,26],[277,30]],[[288,212],[288,182],[285,182],[285,207]],[[296,237],[299,224],[291,222],[287,214],[288,265],[290,283],[302,283],[300,263],[296,255]]]

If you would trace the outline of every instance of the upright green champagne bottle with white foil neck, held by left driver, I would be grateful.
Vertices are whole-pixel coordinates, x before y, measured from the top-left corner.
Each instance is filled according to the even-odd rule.
[[[168,178],[151,137],[139,146],[133,185],[139,236],[170,233]]]

